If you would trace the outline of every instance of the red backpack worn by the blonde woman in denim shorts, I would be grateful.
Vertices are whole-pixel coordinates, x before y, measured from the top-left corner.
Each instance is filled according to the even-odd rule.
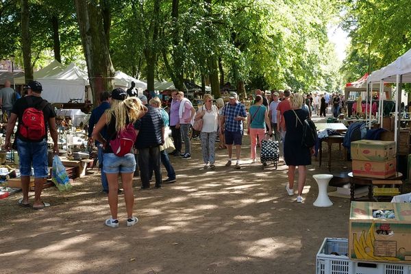
[[[134,142],[136,142],[137,134],[134,130],[134,125],[129,123],[124,129],[116,133],[116,138],[110,140],[110,147],[115,155],[123,157],[132,150]]]

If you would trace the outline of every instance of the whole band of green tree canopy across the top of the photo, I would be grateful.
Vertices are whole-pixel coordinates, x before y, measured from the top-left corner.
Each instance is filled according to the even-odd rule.
[[[21,24],[21,5],[29,8],[29,32]],[[95,7],[102,28],[84,29],[77,8]],[[23,39],[31,38],[30,64],[45,66],[53,58],[63,64],[86,65],[82,36],[105,40],[105,64],[133,77],[184,79],[238,89],[326,90],[379,69],[410,47],[411,5],[407,0],[1,0],[0,57],[16,56],[23,64]],[[16,9],[18,7],[18,9]],[[91,18],[90,18],[91,19]],[[91,19],[93,21],[93,19]],[[327,31],[340,24],[351,44],[340,66]],[[96,30],[94,30],[96,29]],[[90,34],[90,32],[98,32]],[[97,39],[103,36],[102,39]],[[82,42],[83,41],[83,42]],[[92,43],[92,42],[91,42]],[[89,50],[88,50],[89,51]],[[86,55],[84,54],[86,52]],[[369,61],[370,55],[370,62]],[[98,59],[98,58],[97,58]],[[88,60],[88,71],[95,71]],[[101,64],[98,64],[101,66]],[[112,69],[107,68],[111,75]],[[101,69],[97,70],[101,71]],[[110,77],[108,77],[110,78]],[[110,86],[110,85],[103,85]]]

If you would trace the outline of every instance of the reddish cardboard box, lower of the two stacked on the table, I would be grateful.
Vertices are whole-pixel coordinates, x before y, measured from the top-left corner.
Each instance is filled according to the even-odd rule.
[[[353,175],[358,177],[385,179],[397,172],[396,158],[385,162],[353,160],[352,165]]]

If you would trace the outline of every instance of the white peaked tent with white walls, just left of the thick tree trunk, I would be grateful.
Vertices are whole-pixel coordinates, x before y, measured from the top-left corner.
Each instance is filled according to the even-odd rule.
[[[67,103],[71,99],[84,103],[86,86],[89,86],[87,73],[73,63],[60,73],[37,80],[42,84],[41,96],[51,103]]]

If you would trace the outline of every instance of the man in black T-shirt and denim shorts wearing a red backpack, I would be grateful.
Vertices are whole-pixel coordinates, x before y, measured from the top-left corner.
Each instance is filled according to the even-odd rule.
[[[23,199],[18,204],[29,207],[29,183],[34,168],[34,203],[32,208],[39,210],[50,206],[41,201],[40,195],[43,184],[49,177],[47,162],[47,127],[53,139],[53,152],[58,153],[57,129],[55,128],[55,112],[50,103],[41,97],[42,86],[37,81],[32,81],[25,86],[27,96],[14,103],[10,119],[5,132],[3,149],[10,150],[10,136],[18,119],[16,132],[16,149],[20,158],[21,188]],[[14,147],[13,147],[14,148]]]

